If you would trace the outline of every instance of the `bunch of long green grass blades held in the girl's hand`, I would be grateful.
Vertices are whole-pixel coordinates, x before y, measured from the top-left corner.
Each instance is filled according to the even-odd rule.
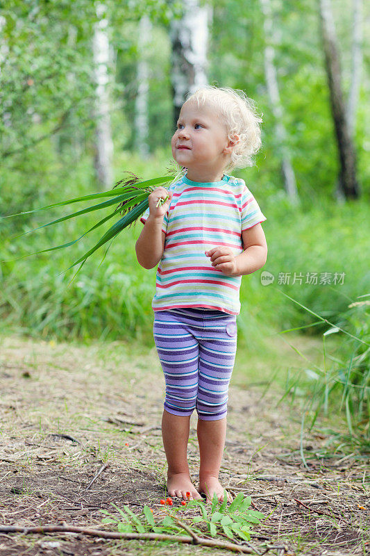
[[[144,211],[146,211],[146,208],[148,208],[149,206],[149,200],[148,200],[149,195],[153,192],[155,187],[158,187],[159,185],[165,186],[165,184],[168,184],[169,186],[171,183],[174,183],[183,174],[183,170],[184,169],[180,167],[171,167],[169,169],[169,172],[171,173],[167,174],[167,176],[147,179],[144,181],[140,181],[140,178],[135,176],[135,174],[133,174],[132,172],[126,172],[130,174],[129,177],[117,181],[117,183],[115,183],[115,186],[113,186],[111,190],[103,191],[102,193],[92,193],[91,195],[76,197],[74,199],[67,199],[66,201],[49,204],[47,206],[42,206],[41,208],[35,208],[33,211],[25,211],[22,213],[8,215],[2,218],[10,218],[12,216],[34,213],[37,211],[45,211],[48,208],[55,208],[56,206],[65,206],[65,205],[74,204],[78,202],[86,202],[95,199],[101,199],[104,197],[110,197],[107,201],[101,202],[99,204],[93,204],[92,206],[88,206],[87,208],[84,208],[81,211],[68,214],[66,216],[63,216],[62,218],[58,218],[57,220],[53,220],[52,222],[43,224],[42,226],[39,226],[35,229],[25,231],[23,234],[20,234],[19,236],[13,238],[13,239],[17,239],[24,236],[25,234],[30,234],[31,232],[37,229],[51,226],[53,224],[59,224],[60,222],[65,222],[65,220],[69,220],[69,218],[83,216],[87,213],[91,213],[92,211],[99,211],[104,208],[115,206],[115,209],[112,213],[110,213],[105,218],[99,220],[99,222],[97,222],[92,228],[87,230],[85,234],[83,234],[79,238],[73,241],[69,241],[68,243],[63,243],[62,245],[57,245],[56,247],[49,247],[49,249],[44,249],[42,251],[37,251],[35,253],[25,255],[25,256],[31,256],[31,255],[48,252],[48,251],[63,249],[65,247],[70,247],[71,245],[74,245],[74,243],[76,243],[77,241],[81,240],[84,236],[86,236],[86,234],[89,234],[90,231],[99,228],[99,226],[101,226],[111,218],[117,217],[117,215],[121,215],[121,218],[119,218],[119,220],[117,220],[117,222],[115,222],[115,224],[113,224],[112,227],[110,227],[110,229],[106,231],[106,233],[102,236],[102,238],[98,241],[98,243],[94,245],[94,247],[92,247],[89,251],[83,254],[83,256],[81,256],[77,261],[74,261],[74,263],[71,266],[69,266],[69,268],[63,271],[63,272],[67,272],[67,270],[69,270],[70,268],[73,268],[78,263],[81,263],[76,274],[74,275],[75,277],[79,272],[79,270],[81,270],[83,264],[85,263],[85,261],[88,259],[90,255],[92,255],[96,250],[99,249],[99,247],[102,247],[110,240],[111,240],[110,242],[111,245],[112,241],[117,237],[117,235],[123,229],[125,229],[128,226],[131,226],[133,222],[136,222],[140,218],[140,216],[144,213]],[[165,200],[166,199],[159,199],[157,206],[163,204]],[[109,247],[106,250],[106,254],[109,250]],[[103,257],[103,260],[105,259],[106,254]],[[19,257],[19,258],[23,259],[24,257]],[[72,280],[74,279],[74,277],[72,278]]]

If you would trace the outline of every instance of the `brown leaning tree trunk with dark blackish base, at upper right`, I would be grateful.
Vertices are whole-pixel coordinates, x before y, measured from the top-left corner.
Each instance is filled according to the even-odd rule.
[[[330,108],[339,152],[339,191],[344,194],[346,199],[357,199],[360,192],[356,178],[355,147],[343,99],[337,38],[330,0],[319,0],[319,6],[326,74],[330,91]]]

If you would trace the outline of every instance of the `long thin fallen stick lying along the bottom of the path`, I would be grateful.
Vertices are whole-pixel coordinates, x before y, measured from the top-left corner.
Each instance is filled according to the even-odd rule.
[[[178,520],[176,520],[178,521]],[[186,528],[184,523],[180,523],[181,527]],[[190,530],[189,530],[190,531]],[[203,539],[203,537],[198,537],[195,533],[192,533],[191,537],[176,537],[172,534],[160,534],[160,533],[114,533],[110,531],[99,531],[95,529],[85,529],[83,527],[74,527],[73,525],[44,525],[41,527],[19,527],[15,525],[0,525],[1,533],[23,533],[23,534],[34,534],[34,533],[80,533],[86,534],[90,537],[101,537],[101,539],[142,539],[146,541],[172,541],[178,543],[187,544],[200,544],[201,546],[212,546],[213,548],[224,548],[226,550],[232,550],[233,552],[239,552],[243,554],[253,554],[255,551],[247,546],[242,546],[233,543],[225,543],[223,541],[212,541],[211,539]]]

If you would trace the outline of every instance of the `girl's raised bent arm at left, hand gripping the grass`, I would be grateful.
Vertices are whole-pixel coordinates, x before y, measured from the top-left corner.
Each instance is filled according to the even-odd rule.
[[[169,199],[161,206],[158,199],[169,196]],[[163,218],[171,203],[172,192],[163,187],[158,187],[149,195],[149,216],[146,219],[142,233],[135,244],[137,261],[144,268],[154,268],[162,259],[165,249],[166,234],[162,230]]]

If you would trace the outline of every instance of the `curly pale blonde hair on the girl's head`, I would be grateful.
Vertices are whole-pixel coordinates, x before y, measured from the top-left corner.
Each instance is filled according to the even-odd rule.
[[[187,101],[197,101],[198,106],[205,103],[214,106],[226,126],[228,139],[233,140],[235,134],[239,136],[227,166],[228,170],[255,164],[253,155],[262,145],[260,129],[262,114],[258,114],[255,101],[240,89],[214,85],[206,85],[195,92],[189,92],[185,99],[185,102]]]

